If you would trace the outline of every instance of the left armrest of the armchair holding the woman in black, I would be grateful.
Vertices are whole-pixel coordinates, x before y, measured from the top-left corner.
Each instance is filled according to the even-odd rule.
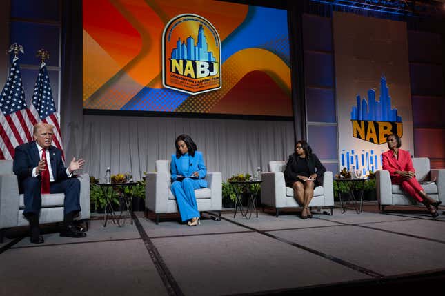
[[[286,199],[286,182],[283,172],[261,173],[261,203],[276,208],[283,207]],[[280,200],[283,204],[280,204]]]

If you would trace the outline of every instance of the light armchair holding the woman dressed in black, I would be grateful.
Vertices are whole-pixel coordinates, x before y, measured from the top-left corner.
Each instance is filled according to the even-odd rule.
[[[263,172],[261,178],[261,203],[275,208],[276,217],[280,208],[299,208],[295,201],[293,188],[286,187],[284,170],[286,161],[269,161],[270,172]],[[330,208],[330,215],[334,208],[333,173],[324,172],[323,186],[314,188],[314,197],[309,207]]]

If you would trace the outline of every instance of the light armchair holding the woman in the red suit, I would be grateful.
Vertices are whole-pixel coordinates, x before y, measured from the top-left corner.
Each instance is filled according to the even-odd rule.
[[[430,159],[428,157],[418,157],[412,160],[417,181],[436,180],[431,184],[422,185],[425,193],[433,199],[445,201],[445,169],[430,170]],[[384,213],[385,206],[418,204],[413,197],[406,195],[399,185],[391,184],[388,170],[377,170],[375,177],[377,201],[381,213]]]

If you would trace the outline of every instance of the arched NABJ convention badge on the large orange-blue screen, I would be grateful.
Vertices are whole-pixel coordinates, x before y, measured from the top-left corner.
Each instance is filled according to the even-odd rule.
[[[190,95],[221,88],[221,39],[196,14],[171,19],[162,34],[162,83]]]

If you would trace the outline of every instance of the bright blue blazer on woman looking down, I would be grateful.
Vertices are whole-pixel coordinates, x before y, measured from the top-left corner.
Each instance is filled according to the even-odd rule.
[[[186,172],[182,171],[181,166],[179,165],[179,159],[176,157],[176,154],[172,154],[172,162],[170,164],[170,172],[172,174],[172,181],[176,181],[178,175],[182,175],[184,177],[190,177],[193,172],[199,173],[199,186],[201,188],[207,187],[207,181],[204,180],[206,177],[207,168],[204,164],[204,159],[202,157],[202,152],[195,151],[195,156],[188,155],[188,161],[190,165],[188,166],[188,170]],[[181,158],[181,157],[179,157]]]

